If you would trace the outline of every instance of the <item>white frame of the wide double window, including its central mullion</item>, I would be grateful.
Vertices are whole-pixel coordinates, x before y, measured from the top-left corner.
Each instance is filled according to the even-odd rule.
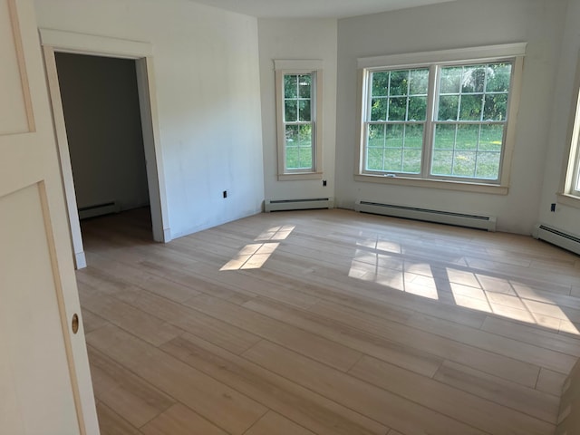
[[[424,53],[404,53],[387,56],[358,59],[358,89],[359,95],[359,144],[358,159],[354,179],[363,182],[393,184],[401,186],[417,186],[436,189],[452,189],[494,193],[506,195],[509,186],[509,169],[515,146],[515,131],[517,107],[519,103],[524,56],[527,43],[509,43],[485,47],[462,48]],[[511,87],[507,107],[507,127],[500,157],[498,180],[470,179],[449,176],[430,175],[431,154],[433,148],[433,133],[437,120],[435,111],[438,102],[438,83],[436,73],[438,68],[459,65],[473,65],[478,63],[513,62]],[[404,173],[372,173],[365,169],[366,153],[366,119],[367,105],[370,103],[371,73],[377,71],[392,71],[404,69],[428,68],[430,81],[428,89],[427,114],[423,131],[423,146],[421,151],[420,174]],[[485,123],[485,121],[482,121]]]

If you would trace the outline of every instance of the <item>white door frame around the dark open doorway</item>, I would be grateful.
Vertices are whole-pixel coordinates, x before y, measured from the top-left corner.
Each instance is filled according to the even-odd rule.
[[[156,88],[152,45],[150,43],[107,36],[77,34],[52,29],[40,29],[40,38],[43,45],[44,65],[53,108],[54,131],[63,176],[76,268],[81,269],[86,266],[86,257],[82,247],[81,224],[74,193],[73,168],[71,166],[69,143],[64,123],[63,102],[61,100],[58,71],[54,56],[54,53],[57,52],[116,57],[135,61],[143,147],[147,164],[153,240],[164,243],[169,242],[171,240],[171,230],[169,228],[163,159],[160,150],[160,129],[155,98]]]

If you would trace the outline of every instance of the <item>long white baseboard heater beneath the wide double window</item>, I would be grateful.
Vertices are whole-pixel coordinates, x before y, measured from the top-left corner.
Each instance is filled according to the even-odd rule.
[[[455,225],[458,227],[486,229],[488,231],[496,230],[496,218],[490,216],[468,215],[451,211],[396,206],[393,204],[381,204],[378,202],[360,200],[354,203],[354,209],[362,213],[392,216],[394,218],[424,220],[427,222]]]

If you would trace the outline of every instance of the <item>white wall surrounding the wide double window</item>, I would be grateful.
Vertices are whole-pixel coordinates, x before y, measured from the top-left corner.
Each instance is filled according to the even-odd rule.
[[[499,230],[529,234],[540,205],[566,3],[565,0],[461,0],[339,20],[336,134],[339,206],[353,208],[353,202],[361,198],[488,214],[498,217]],[[516,42],[528,45],[507,196],[353,180],[358,133],[358,57]]]

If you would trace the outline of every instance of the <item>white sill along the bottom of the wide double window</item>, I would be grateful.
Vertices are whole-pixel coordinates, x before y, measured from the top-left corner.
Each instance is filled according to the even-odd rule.
[[[355,174],[355,181],[365,183],[390,184],[392,186],[409,186],[414,188],[458,190],[462,192],[488,193],[492,195],[507,195],[507,186],[495,186],[481,183],[466,183],[445,179],[411,179],[403,177],[384,177],[382,175]]]

